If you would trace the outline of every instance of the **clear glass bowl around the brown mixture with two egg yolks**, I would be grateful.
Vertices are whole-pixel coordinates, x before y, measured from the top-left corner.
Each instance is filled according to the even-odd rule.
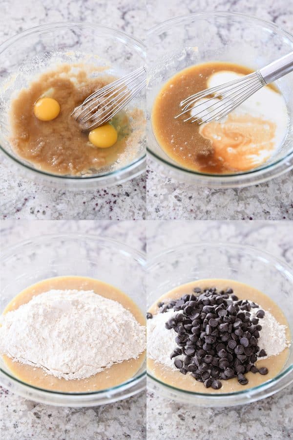
[[[141,137],[138,152],[121,169],[104,170],[92,176],[60,176],[41,171],[14,153],[9,142],[9,105],[34,76],[58,64],[83,63],[105,67],[103,74],[121,77],[145,64],[144,44],[105,26],[90,23],[52,23],[28,29],[0,44],[0,151],[8,156],[15,172],[55,187],[86,189],[122,183],[146,168],[146,145]],[[89,75],[91,76],[91,75]],[[145,111],[145,91],[128,108]],[[126,107],[127,109],[127,107]]]

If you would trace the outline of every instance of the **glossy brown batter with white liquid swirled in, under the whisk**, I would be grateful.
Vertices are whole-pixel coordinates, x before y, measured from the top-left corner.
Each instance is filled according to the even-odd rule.
[[[230,174],[259,167],[276,153],[286,136],[288,113],[273,86],[258,90],[221,121],[199,125],[184,122],[184,116],[175,119],[183,99],[248,73],[244,66],[212,62],[188,67],[167,81],[153,105],[152,128],[171,159],[193,171]]]

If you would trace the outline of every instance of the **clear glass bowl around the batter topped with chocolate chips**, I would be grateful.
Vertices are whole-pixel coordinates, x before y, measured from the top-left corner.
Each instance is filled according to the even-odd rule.
[[[293,268],[251,246],[226,243],[191,243],[168,249],[147,263],[147,309],[176,286],[190,281],[222,278],[251,285],[279,305],[293,335]],[[169,399],[204,406],[243,405],[263,399],[293,382],[293,346],[282,371],[273,379],[245,391],[204,394],[183,391],[158,380],[147,371],[148,389]]]

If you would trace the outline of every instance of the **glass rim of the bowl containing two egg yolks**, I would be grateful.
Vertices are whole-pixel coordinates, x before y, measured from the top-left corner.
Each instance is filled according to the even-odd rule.
[[[14,35],[13,37],[8,38],[3,43],[1,43],[0,44],[0,56],[8,47],[10,47],[14,43],[17,43],[23,37],[27,37],[32,34],[38,34],[43,31],[50,31],[50,30],[54,30],[54,29],[58,29],[58,28],[62,28],[62,27],[70,28],[72,26],[73,27],[80,27],[80,28],[88,27],[93,30],[101,29],[101,30],[104,30],[108,34],[117,35],[117,37],[119,37],[123,40],[128,40],[129,42],[134,43],[135,47],[137,47],[141,51],[142,56],[144,58],[146,58],[146,45],[141,40],[139,40],[131,35],[128,35],[126,32],[123,32],[123,31],[120,31],[117,29],[112,29],[111,27],[104,26],[103,24],[93,24],[93,23],[89,23],[89,22],[52,22],[52,23],[48,23],[48,24],[41,24],[39,26],[31,27],[29,29],[26,29],[26,30]],[[139,157],[134,162],[131,162],[130,164],[120,168],[119,170],[114,170],[114,171],[110,171],[107,173],[101,173],[101,174],[99,174],[99,176],[82,176],[82,177],[81,176],[69,176],[69,175],[63,176],[63,175],[52,174],[47,171],[38,170],[37,168],[33,168],[32,166],[30,166],[29,164],[21,162],[21,160],[18,159],[18,157],[15,157],[12,154],[10,154],[4,147],[1,146],[1,144],[0,144],[0,151],[2,153],[4,153],[7,157],[9,157],[9,159],[11,159],[13,162],[17,163],[21,167],[24,167],[25,169],[29,170],[30,172],[32,171],[32,172],[39,174],[41,176],[48,176],[55,181],[59,181],[60,179],[74,180],[74,181],[85,181],[85,180],[86,181],[89,181],[89,180],[97,181],[97,180],[101,179],[102,177],[119,176],[119,175],[123,174],[124,171],[132,171],[132,170],[134,171],[133,177],[135,177],[135,176],[143,173],[143,171],[144,171],[143,167],[142,167],[142,170],[140,170],[140,172],[138,174],[136,174],[135,171],[138,167],[140,167],[141,165],[143,165],[146,162],[146,153],[145,153],[142,157]],[[119,182],[117,182],[117,183],[119,183]]]

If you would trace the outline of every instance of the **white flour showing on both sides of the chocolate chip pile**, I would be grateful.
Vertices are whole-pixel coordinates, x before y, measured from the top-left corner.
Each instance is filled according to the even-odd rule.
[[[251,317],[255,316],[258,310],[260,308],[251,308]],[[265,350],[267,356],[261,359],[275,356],[290,345],[286,340],[286,327],[280,325],[270,312],[264,311],[265,316],[259,322],[262,330],[259,332],[258,346],[260,350]],[[174,312],[173,309],[170,309],[165,313],[158,313],[152,319],[147,320],[147,356],[165,364],[172,370],[177,370],[174,366],[174,359],[170,359],[170,354],[178,348],[175,342],[177,333],[173,329],[167,330],[165,323],[177,313],[180,312]],[[176,359],[183,358],[184,355],[176,356]]]

